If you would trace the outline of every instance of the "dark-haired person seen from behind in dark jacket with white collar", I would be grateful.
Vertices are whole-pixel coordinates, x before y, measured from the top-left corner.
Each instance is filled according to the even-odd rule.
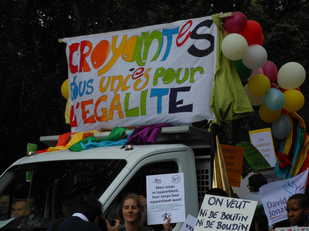
[[[99,217],[102,216],[102,204],[92,195],[79,195],[71,201],[72,216],[66,220],[50,226],[47,231],[102,231],[99,229]],[[108,231],[119,231],[120,224],[116,220],[115,226],[106,223]]]

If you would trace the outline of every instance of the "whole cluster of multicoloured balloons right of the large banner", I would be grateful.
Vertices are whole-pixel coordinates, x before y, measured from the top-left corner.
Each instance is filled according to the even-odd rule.
[[[264,35],[260,24],[247,20],[241,12],[226,18],[225,29],[230,32],[222,41],[221,50],[226,58],[233,60],[244,89],[252,106],[259,106],[260,118],[272,124],[272,133],[284,139],[290,133],[287,112],[298,111],[304,105],[304,96],[299,90],[306,72],[299,63],[284,64],[278,71],[267,60],[262,47]],[[274,82],[277,80],[277,84]]]

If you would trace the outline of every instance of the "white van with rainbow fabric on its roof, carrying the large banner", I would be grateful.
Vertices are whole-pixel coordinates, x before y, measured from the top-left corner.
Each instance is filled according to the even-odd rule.
[[[125,131],[127,136],[130,131]],[[95,133],[98,138],[109,132]],[[41,137],[51,147],[58,136]],[[27,172],[33,171],[32,182]],[[0,229],[46,230],[64,218],[63,203],[79,194],[93,194],[103,204],[104,217],[115,217],[123,195],[135,192],[146,197],[146,176],[184,173],[185,213],[195,217],[205,192],[210,189],[210,132],[192,126],[162,128],[155,144],[61,150],[25,156],[12,164],[0,177],[0,196],[10,202]],[[11,218],[12,202],[29,198],[32,212]],[[0,210],[1,211],[1,210]],[[162,222],[163,223],[163,222]],[[183,223],[173,224],[179,230]],[[1,228],[2,227],[2,228]],[[154,225],[155,231],[162,225]]]

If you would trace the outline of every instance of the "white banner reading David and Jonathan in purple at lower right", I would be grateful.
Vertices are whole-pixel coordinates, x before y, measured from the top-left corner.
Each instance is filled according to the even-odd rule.
[[[304,193],[308,169],[290,179],[274,181],[260,187],[260,196],[268,224],[287,219],[286,201],[296,193]]]

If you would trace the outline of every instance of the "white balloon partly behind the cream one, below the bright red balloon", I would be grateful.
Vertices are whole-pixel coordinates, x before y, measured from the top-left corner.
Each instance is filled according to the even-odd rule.
[[[265,48],[260,45],[250,45],[242,61],[243,65],[250,69],[259,69],[263,67],[267,61],[267,52]]]

